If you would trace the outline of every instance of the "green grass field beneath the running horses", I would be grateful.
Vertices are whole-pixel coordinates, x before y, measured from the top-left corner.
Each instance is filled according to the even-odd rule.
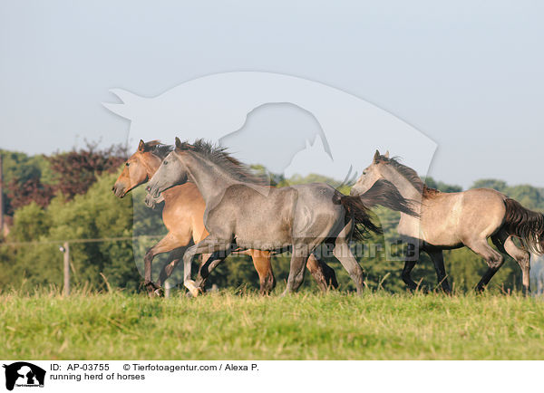
[[[2,359],[544,359],[520,295],[0,295]]]

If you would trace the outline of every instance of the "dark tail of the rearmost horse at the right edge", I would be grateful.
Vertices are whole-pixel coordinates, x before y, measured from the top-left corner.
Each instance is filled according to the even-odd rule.
[[[544,215],[521,206],[520,202],[506,198],[504,228],[509,235],[518,236],[533,254],[544,254]]]

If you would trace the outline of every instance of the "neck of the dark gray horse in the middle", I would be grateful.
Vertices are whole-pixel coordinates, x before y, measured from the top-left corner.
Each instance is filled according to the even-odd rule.
[[[189,181],[199,188],[206,206],[215,206],[228,187],[240,183],[227,170],[197,154],[186,154],[184,164]]]

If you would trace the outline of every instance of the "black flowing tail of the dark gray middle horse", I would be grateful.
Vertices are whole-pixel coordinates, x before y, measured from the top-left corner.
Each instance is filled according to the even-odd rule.
[[[383,233],[382,228],[372,221],[370,207],[381,205],[410,216],[419,216],[413,211],[412,206],[415,202],[405,199],[393,183],[387,180],[376,181],[368,191],[358,196],[345,196],[337,192],[334,202],[344,206],[348,213],[346,219],[353,217],[355,221],[353,237],[357,240],[363,239],[369,230],[379,235]]]

